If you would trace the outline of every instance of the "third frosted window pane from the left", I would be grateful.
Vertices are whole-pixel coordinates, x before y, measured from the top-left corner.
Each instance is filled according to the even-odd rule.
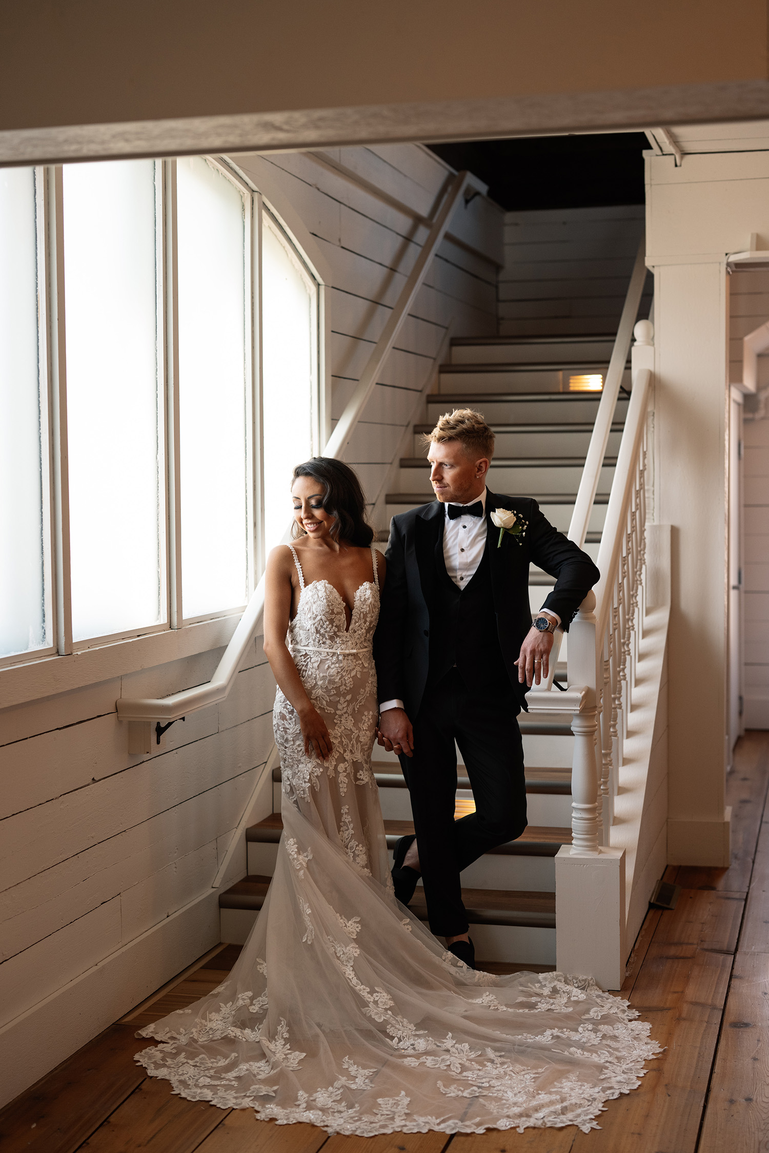
[[[198,157],[176,161],[182,608],[248,596],[243,197]]]

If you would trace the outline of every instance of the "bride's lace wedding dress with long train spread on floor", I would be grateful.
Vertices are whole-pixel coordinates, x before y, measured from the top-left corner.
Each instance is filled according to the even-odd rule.
[[[288,643],[333,752],[306,756],[279,691],[284,835],[264,907],[224,985],[142,1030],[161,1043],[136,1060],[189,1100],[330,1132],[598,1128],[659,1052],[650,1026],[587,978],[474,972],[398,904],[371,771],[376,563],[346,631],[339,593],[306,586],[294,559]]]

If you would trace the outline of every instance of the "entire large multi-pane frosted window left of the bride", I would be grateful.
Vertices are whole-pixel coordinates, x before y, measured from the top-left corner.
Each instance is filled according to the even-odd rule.
[[[0,171],[0,663],[242,611],[321,449],[318,292],[224,160]]]

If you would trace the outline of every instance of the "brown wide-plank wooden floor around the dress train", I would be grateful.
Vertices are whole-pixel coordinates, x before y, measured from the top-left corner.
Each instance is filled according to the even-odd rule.
[[[134,1063],[137,1027],[213,989],[227,945],[96,1038],[0,1111],[2,1153],[760,1153],[769,1151],[769,733],[738,747],[729,869],[669,868],[673,911],[646,918],[623,994],[666,1046],[600,1131],[327,1137],[250,1110],[184,1101]]]

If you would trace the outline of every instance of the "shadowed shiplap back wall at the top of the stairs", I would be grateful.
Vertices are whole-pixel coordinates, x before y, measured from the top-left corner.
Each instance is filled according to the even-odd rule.
[[[616,333],[643,217],[642,204],[505,213],[499,334]],[[650,302],[649,277],[641,316]]]

